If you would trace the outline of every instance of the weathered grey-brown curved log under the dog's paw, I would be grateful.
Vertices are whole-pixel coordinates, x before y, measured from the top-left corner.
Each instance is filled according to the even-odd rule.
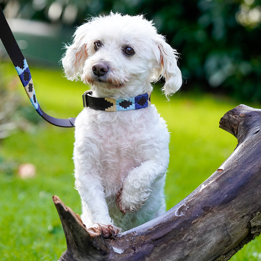
[[[238,139],[229,158],[160,217],[104,239],[54,196],[66,237],[60,261],[229,260],[261,232],[261,110],[239,105],[220,120]]]

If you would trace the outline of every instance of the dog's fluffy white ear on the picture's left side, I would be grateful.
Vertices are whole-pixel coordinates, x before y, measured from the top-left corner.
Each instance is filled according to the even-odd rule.
[[[88,57],[82,29],[81,26],[77,28],[73,35],[73,43],[65,46],[67,50],[61,59],[64,73],[69,80],[78,80],[82,74],[83,63]]]

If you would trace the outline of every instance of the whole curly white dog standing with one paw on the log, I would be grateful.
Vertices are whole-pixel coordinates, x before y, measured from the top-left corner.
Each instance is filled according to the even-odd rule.
[[[79,26],[66,49],[66,76],[90,84],[92,93],[86,95],[97,105],[84,108],[75,121],[81,218],[113,236],[166,211],[169,133],[150,106],[150,94],[161,76],[166,96],[181,87],[177,52],[142,15],[118,13]]]

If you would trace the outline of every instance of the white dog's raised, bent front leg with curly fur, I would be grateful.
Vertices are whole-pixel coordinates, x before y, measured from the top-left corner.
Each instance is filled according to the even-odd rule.
[[[117,206],[123,215],[142,207],[152,191],[152,184],[164,177],[167,165],[167,162],[148,160],[131,170],[117,194]]]

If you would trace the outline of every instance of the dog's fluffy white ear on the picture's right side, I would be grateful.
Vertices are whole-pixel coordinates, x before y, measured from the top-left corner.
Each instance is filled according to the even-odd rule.
[[[162,88],[166,97],[172,95],[180,89],[182,85],[181,71],[177,66],[178,53],[162,37],[157,41],[160,49],[161,75],[165,78],[165,84]]]

